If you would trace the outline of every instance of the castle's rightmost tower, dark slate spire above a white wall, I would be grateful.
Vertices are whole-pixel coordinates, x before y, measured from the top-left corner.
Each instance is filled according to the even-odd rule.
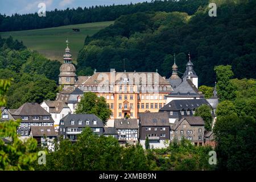
[[[196,72],[193,69],[193,63],[191,62],[190,54],[188,54],[188,63],[186,64],[186,71],[184,72],[184,75],[182,76],[183,80],[189,79],[193,82],[193,84],[198,88],[198,76],[196,75]]]

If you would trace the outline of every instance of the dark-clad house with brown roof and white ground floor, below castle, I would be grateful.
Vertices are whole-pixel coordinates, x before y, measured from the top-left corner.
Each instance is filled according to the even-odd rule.
[[[150,147],[164,148],[170,141],[170,124],[167,113],[141,113],[139,115],[139,142],[145,148],[146,138]]]

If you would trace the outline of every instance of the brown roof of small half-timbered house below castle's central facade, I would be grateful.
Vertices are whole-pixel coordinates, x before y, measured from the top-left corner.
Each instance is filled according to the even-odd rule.
[[[115,119],[114,120],[115,129],[138,129],[137,119]]]

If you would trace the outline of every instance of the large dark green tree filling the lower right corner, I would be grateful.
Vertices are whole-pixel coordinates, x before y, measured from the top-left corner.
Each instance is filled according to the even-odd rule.
[[[251,117],[218,118],[214,125],[218,169],[255,170],[256,122]]]

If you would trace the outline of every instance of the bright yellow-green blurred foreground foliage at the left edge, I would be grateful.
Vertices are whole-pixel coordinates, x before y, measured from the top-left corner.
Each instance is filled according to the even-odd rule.
[[[0,106],[6,105],[5,95],[9,89],[10,80],[0,79]],[[36,140],[28,139],[26,142],[18,139],[16,132],[20,121],[0,122],[0,171],[33,170],[32,163],[36,160]],[[5,143],[2,138],[12,140]]]

